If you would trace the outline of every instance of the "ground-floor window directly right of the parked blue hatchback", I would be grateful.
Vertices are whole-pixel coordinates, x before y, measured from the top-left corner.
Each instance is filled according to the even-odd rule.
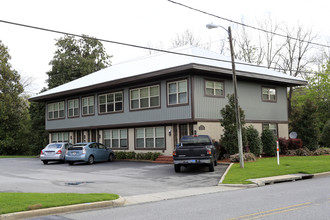
[[[127,129],[104,130],[104,145],[111,148],[127,148]]]

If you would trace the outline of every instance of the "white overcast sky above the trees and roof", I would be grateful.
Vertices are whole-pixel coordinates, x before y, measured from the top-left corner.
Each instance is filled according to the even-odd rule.
[[[278,23],[313,28],[316,42],[330,41],[329,0],[175,0],[228,19],[255,25],[270,16]],[[169,49],[177,34],[190,30],[201,41],[219,44],[221,30],[208,30],[207,23],[225,27],[226,21],[189,10],[167,0],[1,0],[0,20],[49,28],[74,34],[141,46]],[[224,31],[223,31],[224,32]],[[46,72],[60,34],[0,22],[0,40],[8,47],[11,64],[24,79],[31,79],[28,93],[46,86]],[[235,36],[234,36],[235,37]],[[149,53],[148,50],[103,43],[113,55],[112,64]]]

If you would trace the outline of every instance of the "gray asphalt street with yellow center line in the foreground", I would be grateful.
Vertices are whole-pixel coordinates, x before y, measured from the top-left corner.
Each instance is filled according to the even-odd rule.
[[[35,219],[330,219],[330,177]]]

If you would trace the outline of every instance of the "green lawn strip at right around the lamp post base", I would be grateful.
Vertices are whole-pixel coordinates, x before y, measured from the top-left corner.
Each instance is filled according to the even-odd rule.
[[[256,162],[245,162],[244,168],[234,164],[227,173],[223,184],[248,184],[247,179],[279,176],[294,173],[322,173],[330,171],[330,156],[276,157],[257,159]]]

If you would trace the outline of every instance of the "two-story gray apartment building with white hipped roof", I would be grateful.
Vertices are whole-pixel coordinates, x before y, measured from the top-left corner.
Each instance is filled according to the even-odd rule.
[[[182,135],[219,140],[220,109],[233,93],[230,58],[191,46],[173,52],[116,64],[32,97],[46,102],[49,141],[171,155]],[[239,63],[236,69],[247,125],[287,137],[287,86],[306,81]]]

